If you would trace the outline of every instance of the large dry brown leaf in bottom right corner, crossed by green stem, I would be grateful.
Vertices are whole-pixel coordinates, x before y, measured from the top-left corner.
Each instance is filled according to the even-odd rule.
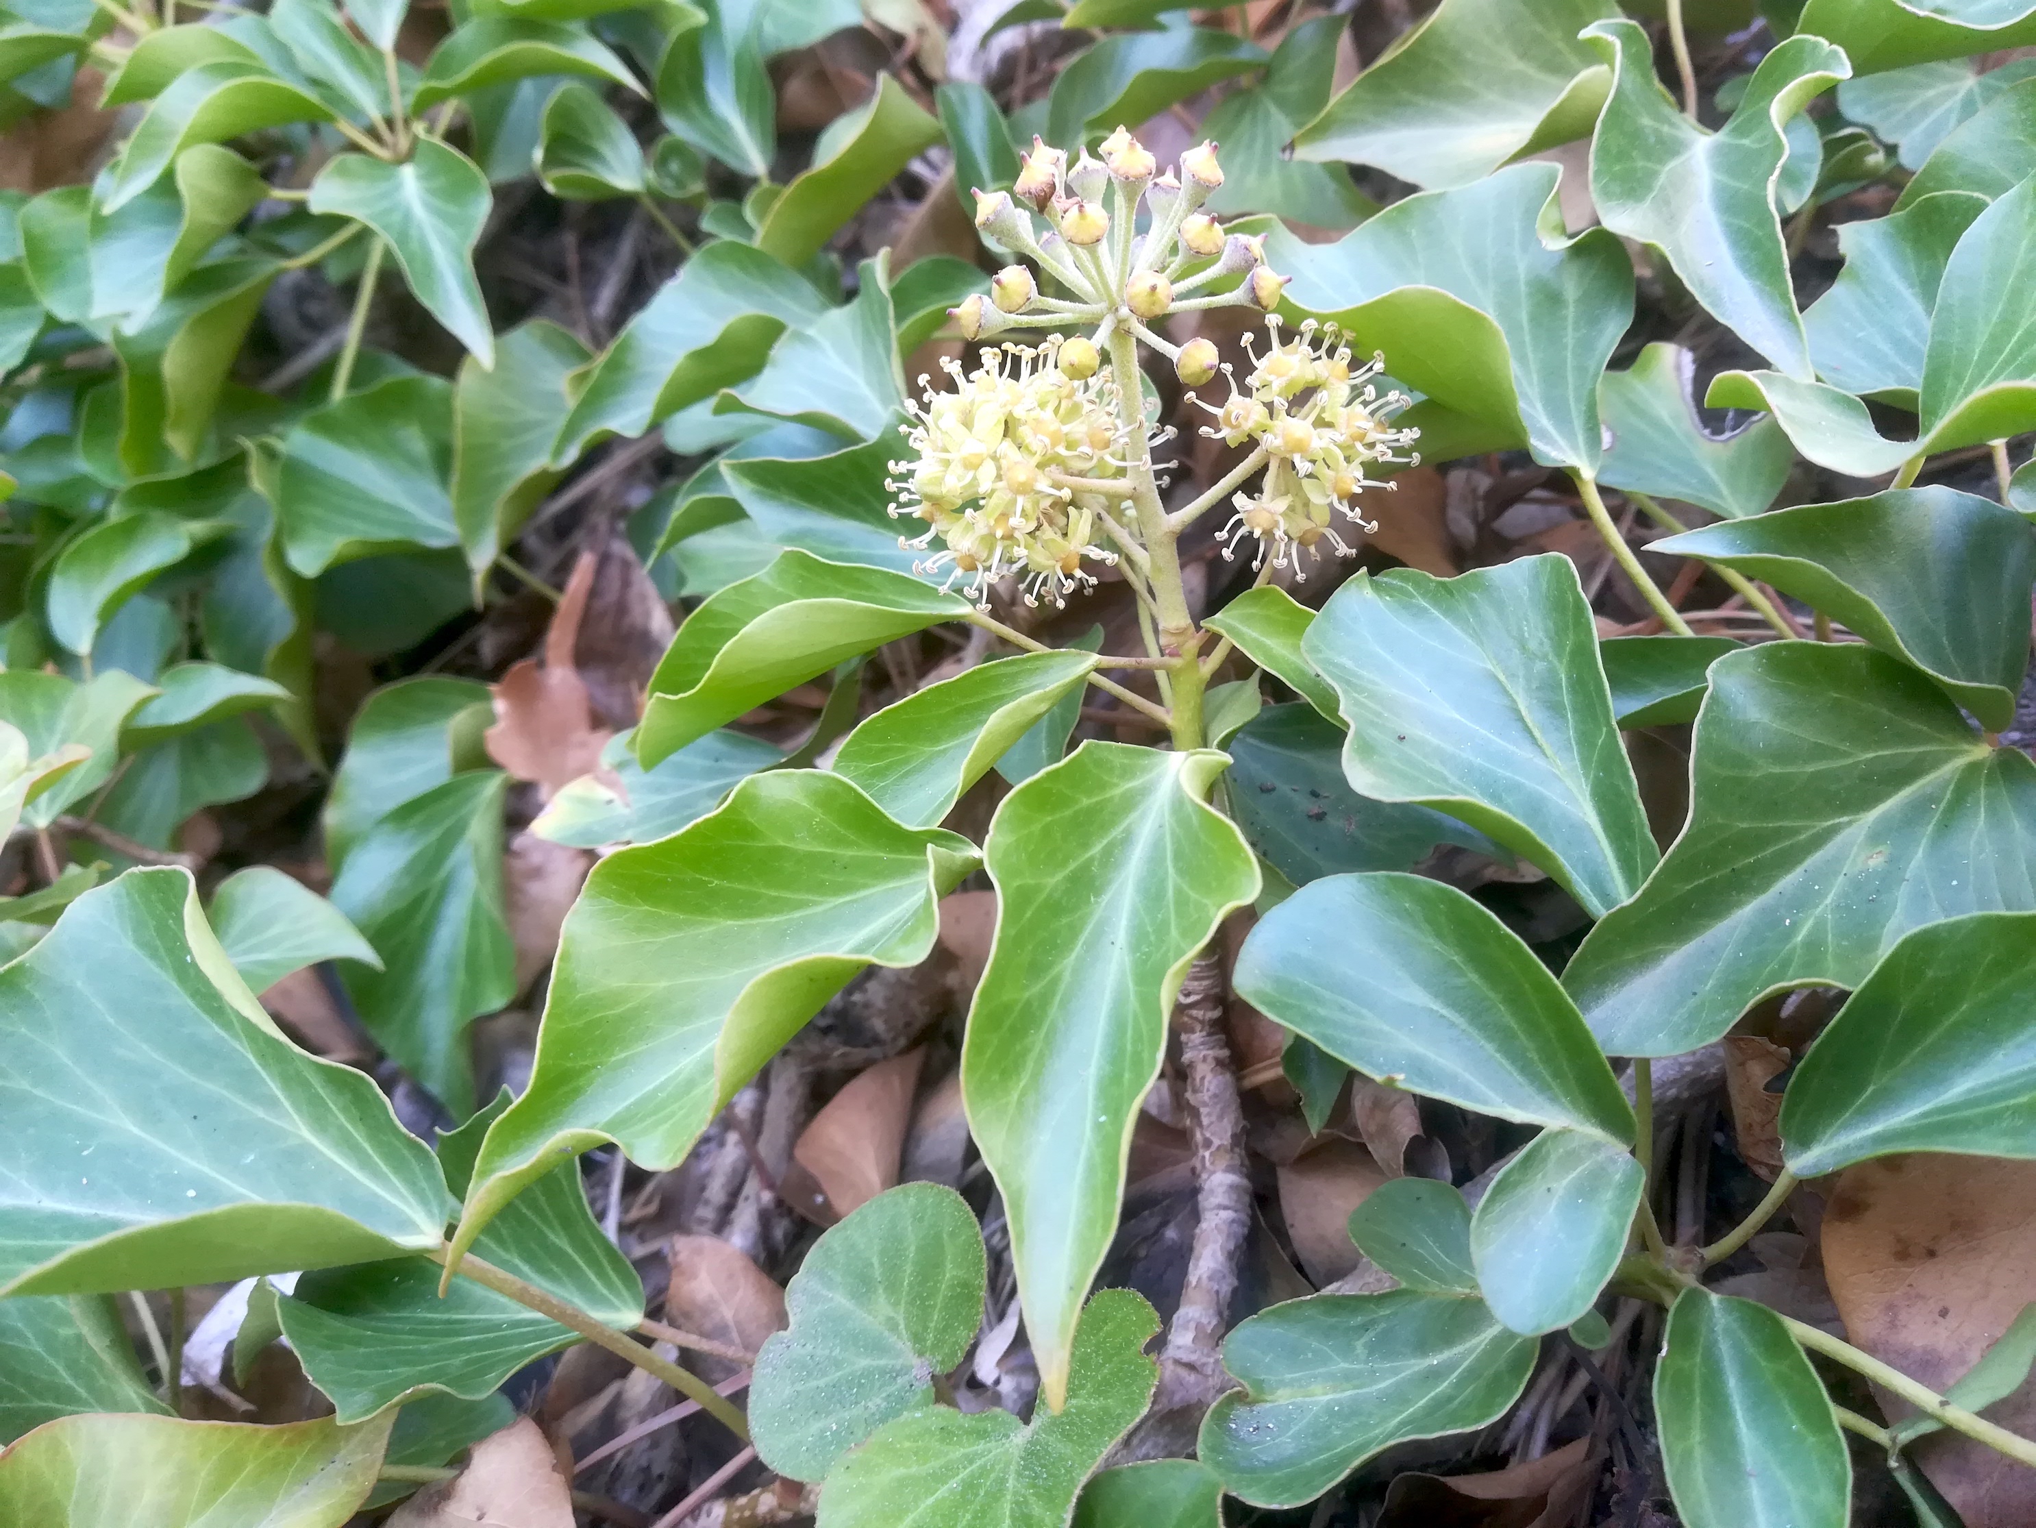
[[[1916,1153],[1849,1167],[1824,1210],[1824,1273],[1853,1345],[1944,1389],[2036,1300],[2036,1161]],[[1987,1418],[2028,1436],[2036,1381]],[[1965,1528],[2036,1522],[2036,1471],[1957,1432],[1910,1453]]]

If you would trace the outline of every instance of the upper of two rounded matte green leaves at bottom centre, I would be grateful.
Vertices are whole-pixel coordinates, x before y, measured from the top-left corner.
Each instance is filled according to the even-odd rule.
[[[786,1286],[790,1326],[749,1381],[757,1455],[825,1477],[896,1416],[932,1404],[932,1375],[969,1351],[987,1281],[975,1212],[941,1184],[904,1184],[823,1233]]]

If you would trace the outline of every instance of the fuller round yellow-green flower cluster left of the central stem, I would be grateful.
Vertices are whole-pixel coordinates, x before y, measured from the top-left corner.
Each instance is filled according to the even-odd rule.
[[[1108,371],[1061,365],[1061,344],[1006,344],[985,350],[971,373],[943,361],[955,387],[906,403],[910,460],[892,462],[886,487],[898,495],[892,517],[916,515],[926,530],[900,546],[941,550],[914,572],[949,568],[947,589],[989,605],[989,587],[1020,579],[1028,605],[1065,605],[1071,589],[1093,585],[1083,558],[1116,562],[1091,544],[1097,511],[1122,493],[1081,483],[1124,479],[1122,426]],[[930,379],[920,377],[920,385]],[[1073,483],[1071,483],[1073,479]]]

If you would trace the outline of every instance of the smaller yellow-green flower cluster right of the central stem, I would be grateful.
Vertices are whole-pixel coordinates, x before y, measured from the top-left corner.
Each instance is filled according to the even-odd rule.
[[[1364,475],[1368,462],[1415,465],[1419,454],[1395,454],[1413,444],[1419,432],[1395,430],[1393,416],[1411,401],[1405,393],[1384,393],[1370,383],[1380,371],[1380,357],[1352,371],[1350,346],[1340,344],[1334,328],[1301,326],[1291,340],[1281,340],[1279,318],[1268,318],[1272,330],[1266,354],[1252,354],[1252,369],[1238,385],[1230,367],[1230,397],[1222,407],[1203,403],[1213,426],[1203,434],[1228,446],[1254,446],[1266,452],[1266,473],[1256,493],[1238,493],[1236,513],[1224,526],[1224,558],[1234,558],[1250,538],[1256,552],[1252,566],[1262,566],[1266,550],[1272,566],[1287,566],[1289,556],[1299,568],[1299,554],[1321,554],[1327,542],[1340,556],[1354,548],[1336,534],[1334,517],[1376,530],[1356,507],[1356,497],[1368,487],[1395,487]],[[1250,348],[1250,336],[1246,336]],[[1295,581],[1305,579],[1295,572]]]

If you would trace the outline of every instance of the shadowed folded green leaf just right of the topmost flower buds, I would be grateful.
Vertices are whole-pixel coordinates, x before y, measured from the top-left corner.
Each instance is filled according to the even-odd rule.
[[[1342,31],[1336,16],[1303,20],[1281,39],[1264,84],[1226,96],[1203,120],[1201,134],[1224,145],[1226,161],[1224,183],[1205,204],[1211,214],[1272,212],[1317,228],[1352,228],[1378,212],[1378,204],[1352,185],[1344,165],[1285,153],[1330,102]]]

